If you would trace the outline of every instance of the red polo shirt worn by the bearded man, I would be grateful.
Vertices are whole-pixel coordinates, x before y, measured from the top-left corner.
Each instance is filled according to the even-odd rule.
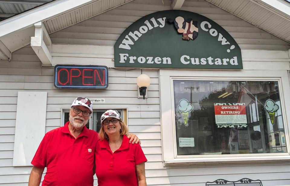
[[[47,167],[42,185],[92,186],[98,133],[84,127],[75,139],[68,124],[45,134],[31,164]]]

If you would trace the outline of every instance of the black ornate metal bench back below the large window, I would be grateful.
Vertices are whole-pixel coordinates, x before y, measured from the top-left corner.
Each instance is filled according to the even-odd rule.
[[[243,178],[238,181],[227,181],[224,179],[218,179],[213,182],[206,182],[206,186],[263,186],[261,180],[251,180],[249,178]]]

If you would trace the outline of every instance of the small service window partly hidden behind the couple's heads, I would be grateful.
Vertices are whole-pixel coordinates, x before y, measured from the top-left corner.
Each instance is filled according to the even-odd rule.
[[[88,123],[85,125],[88,129],[94,130],[96,132],[99,132],[101,129],[101,115],[108,109],[102,109],[102,110],[93,110],[93,113],[90,116],[90,119],[88,121]],[[124,113],[126,113],[126,109],[113,109],[113,110],[117,110],[120,115],[122,120],[126,123],[126,117],[124,117]],[[69,110],[65,110],[64,112],[64,121],[63,121],[63,125],[69,121]],[[62,125],[62,126],[63,126]]]

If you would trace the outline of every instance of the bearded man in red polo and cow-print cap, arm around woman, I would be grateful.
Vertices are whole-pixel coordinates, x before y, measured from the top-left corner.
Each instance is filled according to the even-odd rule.
[[[45,134],[31,161],[29,186],[39,186],[45,167],[42,185],[93,185],[94,152],[99,138],[97,132],[85,127],[92,111],[88,98],[77,97],[69,111],[69,122]],[[128,138],[132,144],[139,143],[133,134]]]

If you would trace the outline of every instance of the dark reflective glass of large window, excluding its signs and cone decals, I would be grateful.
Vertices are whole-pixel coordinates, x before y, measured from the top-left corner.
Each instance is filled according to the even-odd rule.
[[[173,87],[178,155],[279,152],[271,150],[273,146],[270,139],[275,139],[274,135],[271,137],[271,130],[275,125],[269,125],[264,109],[267,99],[280,104],[278,82],[173,80]],[[176,109],[181,99],[188,100],[194,107],[188,117],[188,126],[184,126],[182,116]],[[237,123],[233,123],[233,127],[218,127],[214,103],[245,103],[247,127]],[[284,128],[281,111],[275,119],[279,138],[282,139]],[[194,138],[195,146],[179,147],[179,138]],[[230,149],[232,146],[235,150]],[[287,152],[285,144],[283,147],[281,151]]]

